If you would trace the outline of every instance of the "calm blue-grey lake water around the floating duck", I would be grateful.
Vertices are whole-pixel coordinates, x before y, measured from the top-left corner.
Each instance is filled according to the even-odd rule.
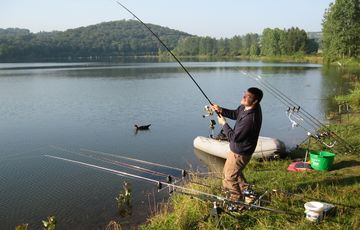
[[[214,103],[236,108],[243,91],[258,86],[241,74],[245,70],[260,74],[322,121],[328,97],[342,84],[319,65],[184,65]],[[261,135],[294,147],[306,132],[292,129],[287,107],[264,92]],[[153,185],[131,181],[134,218],[120,218],[115,197],[123,178],[44,154],[123,171],[129,170],[77,153],[90,149],[202,169],[192,141],[209,134],[209,119],[202,118],[206,104],[177,63],[0,64],[0,229],[21,223],[39,229],[49,215],[57,217],[59,229],[103,229],[110,220],[143,221],[149,200],[159,196],[153,195]],[[134,124],[148,123],[150,131],[134,133]]]

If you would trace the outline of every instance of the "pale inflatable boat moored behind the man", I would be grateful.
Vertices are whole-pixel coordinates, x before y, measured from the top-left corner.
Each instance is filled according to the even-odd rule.
[[[224,159],[226,159],[226,155],[230,151],[228,141],[203,136],[198,136],[194,139],[194,148]],[[282,141],[260,136],[252,158],[279,158],[282,157],[285,152],[285,145]]]

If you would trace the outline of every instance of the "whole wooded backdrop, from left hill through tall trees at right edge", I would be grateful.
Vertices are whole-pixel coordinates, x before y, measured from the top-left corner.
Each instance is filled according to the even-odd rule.
[[[334,61],[360,54],[359,0],[331,3],[324,13],[322,31],[265,28],[262,34],[216,39],[147,25],[179,56],[273,57],[320,53],[325,60]],[[167,54],[166,49],[136,20],[39,33],[19,28],[0,29],[1,62],[163,54]]]

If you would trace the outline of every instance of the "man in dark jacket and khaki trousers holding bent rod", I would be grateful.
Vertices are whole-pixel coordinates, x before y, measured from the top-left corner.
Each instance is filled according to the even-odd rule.
[[[224,165],[223,187],[230,193],[230,199],[241,201],[242,191],[247,187],[243,170],[254,153],[259,138],[262,123],[260,101],[263,92],[251,87],[244,92],[240,106],[235,110],[222,108],[217,104],[212,105],[218,116],[218,122],[230,142],[230,152]],[[236,120],[231,128],[225,117]]]

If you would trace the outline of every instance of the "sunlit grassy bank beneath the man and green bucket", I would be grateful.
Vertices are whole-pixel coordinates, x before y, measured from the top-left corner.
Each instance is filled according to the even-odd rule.
[[[350,105],[359,105],[357,88],[346,99]],[[343,100],[343,98],[340,98]],[[355,151],[345,154],[342,147],[329,150],[336,152],[330,171],[288,171],[295,158],[304,159],[307,144],[299,146],[285,160],[258,162],[252,160],[245,170],[255,191],[268,191],[270,203],[266,207],[287,211],[278,214],[253,209],[239,213],[222,213],[209,216],[213,204],[188,195],[174,194],[160,212],[151,217],[141,229],[360,229],[360,115],[334,118],[330,129],[343,137]],[[321,150],[319,143],[311,143],[310,150]],[[219,174],[219,177],[221,174]],[[207,193],[220,195],[221,179],[214,176],[193,178],[196,184],[187,186]],[[207,186],[203,186],[203,185]],[[323,201],[335,205],[335,212],[320,223],[305,218],[304,204],[309,201]],[[292,213],[292,214],[290,214]]]

